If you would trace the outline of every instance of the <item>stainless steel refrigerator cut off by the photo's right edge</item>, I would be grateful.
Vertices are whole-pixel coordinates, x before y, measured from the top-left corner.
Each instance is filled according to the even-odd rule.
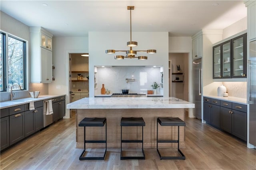
[[[248,59],[249,143],[256,146],[256,40],[250,42]]]

